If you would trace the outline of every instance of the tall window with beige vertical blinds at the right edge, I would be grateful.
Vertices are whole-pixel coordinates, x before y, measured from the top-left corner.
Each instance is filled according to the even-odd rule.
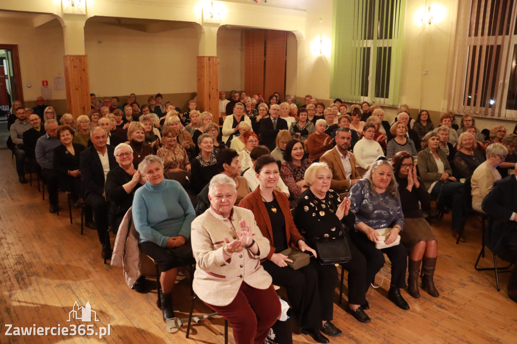
[[[448,110],[517,118],[517,1],[460,2]]]

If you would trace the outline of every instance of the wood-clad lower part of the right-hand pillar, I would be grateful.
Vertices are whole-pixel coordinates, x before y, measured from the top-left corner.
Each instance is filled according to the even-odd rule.
[[[219,118],[219,57],[197,56],[197,108]]]

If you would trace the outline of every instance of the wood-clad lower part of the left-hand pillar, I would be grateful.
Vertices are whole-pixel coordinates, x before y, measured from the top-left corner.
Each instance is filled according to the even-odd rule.
[[[90,111],[88,56],[65,55],[65,88],[67,109],[74,118]]]

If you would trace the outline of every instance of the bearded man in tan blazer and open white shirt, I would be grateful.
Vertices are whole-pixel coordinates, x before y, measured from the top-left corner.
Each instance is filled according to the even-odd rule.
[[[320,162],[324,162],[332,172],[330,187],[339,193],[348,192],[352,184],[361,179],[355,165],[354,154],[347,149],[350,147],[352,133],[348,128],[339,128],[336,131],[336,147],[327,150]]]

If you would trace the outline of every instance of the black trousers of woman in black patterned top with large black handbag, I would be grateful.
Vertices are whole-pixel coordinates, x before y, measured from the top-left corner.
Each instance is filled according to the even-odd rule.
[[[359,249],[354,245],[349,236],[346,237],[348,248],[352,259],[341,264],[348,271],[348,303],[362,305],[366,303],[366,291],[364,281],[366,281],[367,261]]]

